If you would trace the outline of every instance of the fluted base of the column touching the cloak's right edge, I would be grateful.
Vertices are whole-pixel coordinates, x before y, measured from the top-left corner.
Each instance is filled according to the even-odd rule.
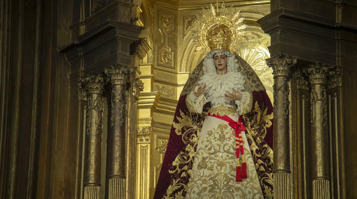
[[[274,171],[274,198],[290,199],[290,171]]]

